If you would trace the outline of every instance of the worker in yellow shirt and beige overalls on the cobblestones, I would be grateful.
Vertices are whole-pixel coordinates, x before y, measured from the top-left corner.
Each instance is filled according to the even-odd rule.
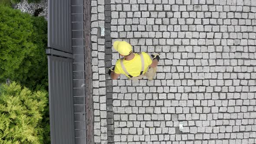
[[[108,69],[112,79],[117,79],[121,74],[132,80],[142,79],[144,76],[149,80],[153,79],[160,59],[159,54],[152,54],[152,60],[146,52],[133,53],[132,46],[125,41],[115,41],[113,47],[123,58],[118,59],[116,65]]]

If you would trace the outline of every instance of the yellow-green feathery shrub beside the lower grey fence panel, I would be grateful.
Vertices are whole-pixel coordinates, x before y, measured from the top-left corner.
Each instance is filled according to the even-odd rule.
[[[0,85],[0,144],[43,144],[47,101],[46,92],[31,92],[16,82]]]

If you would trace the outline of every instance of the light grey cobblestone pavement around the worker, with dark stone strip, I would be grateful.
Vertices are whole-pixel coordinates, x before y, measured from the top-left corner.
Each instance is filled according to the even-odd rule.
[[[92,0],[95,143],[255,144],[255,18],[256,0]],[[112,81],[115,40],[159,52],[155,79]]]

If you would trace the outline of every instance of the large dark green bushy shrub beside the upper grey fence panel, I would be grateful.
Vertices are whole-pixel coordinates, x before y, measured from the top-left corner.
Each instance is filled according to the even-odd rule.
[[[47,22],[0,6],[0,82],[7,78],[32,90],[47,89]]]

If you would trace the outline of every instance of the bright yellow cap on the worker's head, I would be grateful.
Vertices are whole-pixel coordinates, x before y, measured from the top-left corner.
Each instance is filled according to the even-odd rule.
[[[125,41],[115,41],[113,47],[123,56],[128,56],[132,52],[132,46]]]

